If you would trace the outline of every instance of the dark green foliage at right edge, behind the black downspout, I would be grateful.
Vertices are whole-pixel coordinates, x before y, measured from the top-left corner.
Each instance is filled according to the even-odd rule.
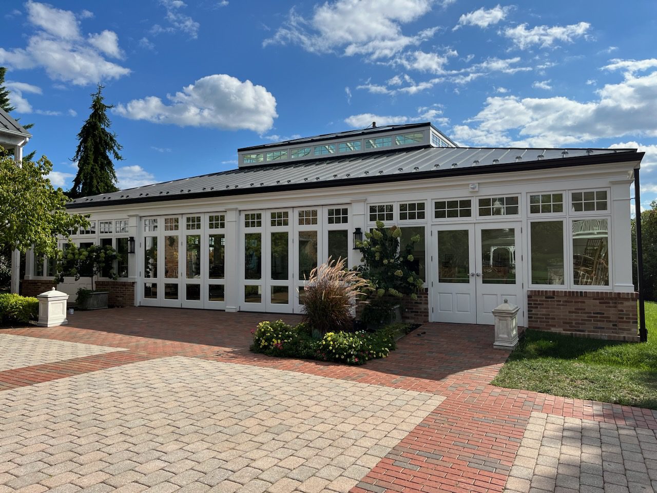
[[[641,247],[643,249],[643,286],[646,300],[657,300],[657,200],[641,212]],[[632,220],[632,264],[634,285],[637,281],[637,223]]]

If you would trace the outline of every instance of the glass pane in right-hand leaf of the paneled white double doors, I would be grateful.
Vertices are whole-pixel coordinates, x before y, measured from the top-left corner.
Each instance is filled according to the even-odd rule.
[[[516,283],[516,230],[482,229],[482,282]]]

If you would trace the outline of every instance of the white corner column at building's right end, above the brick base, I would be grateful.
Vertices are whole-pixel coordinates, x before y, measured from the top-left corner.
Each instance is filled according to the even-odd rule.
[[[631,181],[612,181],[610,208],[611,275],[614,292],[633,293],[632,282],[632,233],[629,221],[629,187]]]

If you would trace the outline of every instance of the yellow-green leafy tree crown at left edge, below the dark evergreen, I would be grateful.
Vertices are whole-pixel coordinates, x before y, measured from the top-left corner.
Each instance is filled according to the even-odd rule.
[[[1,149],[1,148],[0,148]],[[80,214],[68,214],[68,197],[47,178],[53,164],[45,157],[24,159],[16,166],[11,156],[0,156],[0,246],[57,256],[57,236],[87,227]]]

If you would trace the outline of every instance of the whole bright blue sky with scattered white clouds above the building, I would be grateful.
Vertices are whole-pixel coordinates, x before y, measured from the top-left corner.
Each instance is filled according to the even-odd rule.
[[[639,147],[642,202],[657,198],[654,0],[3,7],[13,115],[64,188],[101,82],[121,187],[235,168],[238,147],[431,121],[461,145]]]

